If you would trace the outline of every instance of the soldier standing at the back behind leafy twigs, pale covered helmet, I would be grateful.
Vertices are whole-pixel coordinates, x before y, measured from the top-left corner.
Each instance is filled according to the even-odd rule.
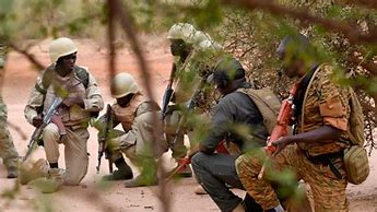
[[[167,38],[170,40],[172,55],[175,56],[176,71],[174,74],[175,91],[172,98],[174,104],[168,107],[165,132],[166,140],[173,150],[173,157],[179,163],[187,153],[184,134],[188,134],[192,146],[193,140],[199,136],[199,128],[186,125],[182,127],[185,133],[177,134],[177,126],[182,123],[182,115],[187,114],[185,111],[192,113],[193,108],[197,117],[202,118],[203,121],[208,119],[213,99],[210,97],[211,87],[205,81],[216,57],[222,55],[223,50],[208,34],[196,30],[188,23],[174,24]],[[187,105],[190,103],[192,108],[187,109]],[[189,166],[186,166],[179,176],[191,176]]]

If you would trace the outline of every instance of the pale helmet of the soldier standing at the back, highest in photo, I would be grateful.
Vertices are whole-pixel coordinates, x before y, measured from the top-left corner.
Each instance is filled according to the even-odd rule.
[[[197,30],[188,23],[174,24],[167,33],[167,39],[182,39],[185,43],[192,44]]]

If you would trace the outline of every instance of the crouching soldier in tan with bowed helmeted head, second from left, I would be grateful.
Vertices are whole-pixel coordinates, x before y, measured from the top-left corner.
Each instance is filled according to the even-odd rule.
[[[126,187],[156,185],[158,181],[155,160],[168,150],[164,134],[161,133],[153,140],[153,116],[161,121],[160,106],[142,95],[139,85],[129,73],[118,73],[113,79],[111,96],[116,98],[116,104],[111,105],[110,126],[116,127],[120,123],[125,131],[119,134],[110,130],[115,138],[108,143],[109,158],[115,162],[118,169],[104,179],[130,179],[125,182]],[[99,118],[96,123],[99,130],[101,126],[104,126],[104,118]],[[160,125],[163,126],[162,122]],[[133,178],[132,169],[126,163],[122,153],[141,168],[138,177]]]

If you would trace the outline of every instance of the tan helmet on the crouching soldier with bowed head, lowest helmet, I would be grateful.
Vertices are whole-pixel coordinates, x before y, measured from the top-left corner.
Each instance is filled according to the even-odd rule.
[[[122,72],[114,76],[110,85],[110,91],[114,98],[120,98],[127,96],[128,94],[136,94],[140,90],[132,75]]]

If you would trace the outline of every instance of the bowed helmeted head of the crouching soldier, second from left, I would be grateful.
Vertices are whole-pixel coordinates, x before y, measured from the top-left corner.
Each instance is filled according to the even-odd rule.
[[[114,76],[110,84],[111,96],[121,107],[126,107],[134,94],[140,92],[138,83],[129,73],[122,72]]]

